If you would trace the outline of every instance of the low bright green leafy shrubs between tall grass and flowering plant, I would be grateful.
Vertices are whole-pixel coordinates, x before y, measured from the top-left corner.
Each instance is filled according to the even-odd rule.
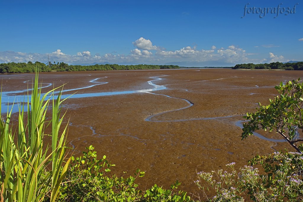
[[[62,201],[190,201],[186,192],[175,189],[181,183],[171,185],[165,190],[156,184],[146,190],[138,189],[135,180],[145,172],[137,170],[128,178],[108,175],[110,167],[115,166],[106,160],[106,156],[97,159],[91,145],[86,147],[83,156],[72,157],[72,163],[61,187]]]

